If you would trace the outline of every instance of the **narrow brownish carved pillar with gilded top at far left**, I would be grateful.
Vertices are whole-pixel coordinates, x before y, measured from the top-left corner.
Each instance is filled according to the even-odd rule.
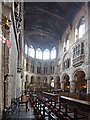
[[[11,21],[8,17],[2,16],[2,35],[9,40],[9,29],[10,29]],[[5,75],[9,73],[9,48],[6,45],[6,41],[2,44],[2,94],[3,94],[3,106],[4,99],[6,100],[6,106],[8,106],[8,77],[5,78]],[[5,82],[6,81],[6,82]],[[4,89],[6,88],[6,90]],[[4,91],[5,90],[5,91]],[[4,92],[6,96],[4,96]]]

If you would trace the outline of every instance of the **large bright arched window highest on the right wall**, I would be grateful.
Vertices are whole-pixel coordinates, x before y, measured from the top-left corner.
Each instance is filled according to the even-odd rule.
[[[78,37],[79,39],[85,34],[85,18],[83,17],[78,26]]]

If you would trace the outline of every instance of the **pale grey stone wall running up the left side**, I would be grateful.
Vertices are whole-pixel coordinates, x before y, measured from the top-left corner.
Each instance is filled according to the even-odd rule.
[[[7,74],[6,78],[6,103],[7,107],[11,104],[11,99],[19,97],[22,91],[22,69],[17,71],[18,56],[21,55],[20,67],[23,67],[23,35],[21,35],[21,41],[17,38],[15,22],[13,12],[14,2],[0,2],[0,34],[2,33],[2,15],[8,17],[11,20],[11,26],[9,32],[6,30],[7,39],[11,41],[11,47],[7,47],[0,41],[0,117],[4,108],[4,75]],[[23,31],[23,29],[22,29]],[[21,32],[23,33],[23,32]],[[19,41],[21,43],[19,43]],[[20,46],[21,45],[21,46]],[[20,49],[21,48],[21,49]],[[5,55],[5,57],[4,57]],[[6,61],[6,63],[4,62]],[[5,72],[4,72],[5,69]]]

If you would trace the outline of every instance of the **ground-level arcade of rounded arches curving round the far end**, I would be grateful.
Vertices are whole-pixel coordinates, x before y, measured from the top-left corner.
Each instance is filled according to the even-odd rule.
[[[77,70],[73,73],[73,81],[70,81],[70,76],[66,73],[60,76],[35,76],[26,75],[26,89],[35,90],[36,88],[46,88],[48,90],[60,90],[65,92],[71,92],[76,94],[87,94],[87,80],[85,78],[85,72]],[[62,80],[61,80],[62,78]]]

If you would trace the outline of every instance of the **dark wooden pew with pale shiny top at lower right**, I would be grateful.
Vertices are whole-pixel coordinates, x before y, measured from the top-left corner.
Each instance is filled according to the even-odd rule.
[[[73,119],[78,120],[78,119],[82,119],[82,118],[88,118],[88,120],[90,120],[90,102],[87,101],[83,101],[83,100],[77,100],[74,98],[70,98],[70,97],[65,97],[65,96],[61,96],[60,97],[60,101],[61,103],[65,104],[67,103],[67,107],[65,107],[66,109],[66,115],[71,115],[68,112],[68,109],[72,111],[73,113]]]

